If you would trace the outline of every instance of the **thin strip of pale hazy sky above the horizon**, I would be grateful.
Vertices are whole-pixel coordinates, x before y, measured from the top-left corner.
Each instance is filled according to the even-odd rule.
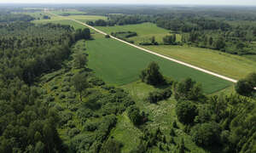
[[[256,0],[0,0],[0,3],[137,3],[137,4],[207,4],[256,5]]]

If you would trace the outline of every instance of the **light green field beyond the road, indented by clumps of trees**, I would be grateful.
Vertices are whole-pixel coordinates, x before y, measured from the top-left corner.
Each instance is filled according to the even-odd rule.
[[[137,37],[131,37],[136,44],[143,41],[148,41],[149,38],[155,37],[157,42],[162,42],[163,37],[170,34],[170,31],[160,28],[153,23],[143,23],[137,25],[125,25],[125,26],[96,26],[97,29],[105,31],[108,34],[117,31],[136,31]],[[177,35],[177,41],[180,41],[179,35]]]

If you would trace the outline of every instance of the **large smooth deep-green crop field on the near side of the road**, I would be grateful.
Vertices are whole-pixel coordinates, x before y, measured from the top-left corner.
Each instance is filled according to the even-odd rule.
[[[86,46],[89,54],[89,67],[96,72],[98,77],[114,85],[137,81],[140,72],[152,61],[160,65],[160,71],[167,77],[172,77],[177,81],[191,77],[196,82],[201,82],[207,94],[212,94],[232,84],[101,35],[96,35],[93,41],[87,41]]]

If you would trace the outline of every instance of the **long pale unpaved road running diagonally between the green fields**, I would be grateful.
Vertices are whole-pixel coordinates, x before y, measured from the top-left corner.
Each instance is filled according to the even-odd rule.
[[[47,12],[47,13],[49,13],[49,12]],[[49,13],[49,14],[52,14],[52,13]],[[73,20],[74,22],[77,22],[77,23],[79,23],[79,24],[81,24],[81,25],[87,26],[87,27],[89,27],[90,29],[92,29],[92,30],[94,30],[94,31],[96,31],[96,32],[101,33],[102,35],[108,35],[108,34],[105,33],[104,31],[100,31],[100,30],[96,29],[95,27],[89,26],[89,25],[87,25],[87,24],[85,24],[85,23],[83,23],[83,22],[81,22],[81,21],[79,21],[79,20],[70,19],[70,18],[68,18],[68,17],[64,17],[64,16],[57,15],[57,14],[52,14],[52,15],[60,16],[60,17],[65,18],[65,19],[67,19],[67,20]],[[154,52],[151,51],[151,50],[138,47],[138,46],[135,45],[135,44],[132,44],[132,43],[130,43],[130,42],[125,42],[125,41],[123,41],[123,40],[121,40],[121,39],[119,39],[119,38],[117,38],[117,37],[113,37],[113,36],[110,36],[110,37],[113,38],[113,39],[115,39],[115,40],[117,40],[117,41],[119,41],[119,42],[124,42],[125,44],[128,44],[128,45],[130,45],[130,46],[132,46],[132,47],[134,47],[134,48],[138,48],[138,49],[140,49],[140,50],[143,50],[144,52],[148,52],[149,54],[154,54],[154,55],[160,56],[161,58],[171,60],[171,61],[173,61],[173,62],[176,62],[176,63],[180,64],[180,65],[188,66],[188,67],[193,68],[193,69],[195,69],[195,70],[197,70],[197,71],[202,71],[202,72],[205,72],[205,73],[210,74],[210,75],[212,75],[212,76],[219,77],[219,78],[222,78],[222,79],[227,80],[227,81],[230,81],[230,82],[234,82],[234,83],[237,82],[237,80],[232,79],[232,78],[230,78],[230,77],[224,77],[224,76],[219,75],[219,74],[217,74],[217,73],[214,73],[214,72],[212,72],[212,71],[207,71],[207,70],[205,70],[205,69],[202,69],[202,68],[200,68],[200,67],[197,67],[197,66],[195,66],[195,65],[189,65],[188,63],[185,63],[185,62],[183,62],[183,61],[180,61],[180,60],[177,60],[177,59],[172,59],[172,58],[167,57],[167,56],[162,55],[162,54],[154,53]],[[256,88],[254,88],[254,89],[256,90]]]

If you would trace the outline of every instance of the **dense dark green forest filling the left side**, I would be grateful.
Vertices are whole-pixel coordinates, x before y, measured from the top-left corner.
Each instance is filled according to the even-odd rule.
[[[61,152],[58,113],[44,102],[37,77],[60,69],[74,42],[89,39],[90,31],[35,26],[18,16],[7,15],[0,27],[0,152]]]

